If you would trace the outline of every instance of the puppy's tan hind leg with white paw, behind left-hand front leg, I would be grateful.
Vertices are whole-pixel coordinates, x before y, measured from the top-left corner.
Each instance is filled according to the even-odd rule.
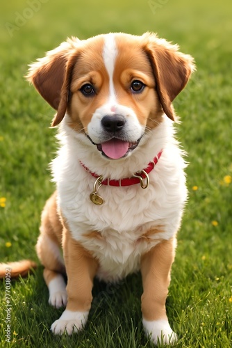
[[[49,288],[49,303],[56,308],[67,304],[65,264],[60,253],[62,232],[63,226],[57,212],[55,192],[47,200],[42,212],[36,251],[44,265],[44,280]]]

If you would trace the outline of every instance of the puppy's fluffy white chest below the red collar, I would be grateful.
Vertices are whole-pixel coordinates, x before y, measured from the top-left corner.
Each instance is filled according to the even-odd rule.
[[[90,173],[85,175],[90,179]],[[103,280],[119,280],[137,271],[141,255],[160,239],[171,238],[178,227],[179,207],[168,207],[169,196],[164,194],[163,179],[161,184],[156,177],[154,184],[152,177],[156,173],[150,176],[147,189],[142,189],[139,184],[101,187],[102,205],[94,205],[90,200],[94,180],[81,180],[75,185],[75,190],[72,189],[73,183],[65,182],[65,188],[58,185],[62,196],[61,209],[69,221],[72,236],[99,260],[97,276]],[[176,200],[180,201],[179,193],[176,193]],[[152,229],[156,233],[147,238],[146,232]]]

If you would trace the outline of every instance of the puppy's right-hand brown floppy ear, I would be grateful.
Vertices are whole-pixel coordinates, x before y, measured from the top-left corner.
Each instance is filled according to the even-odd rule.
[[[154,76],[156,90],[165,114],[174,120],[172,101],[185,87],[194,71],[193,58],[178,51],[178,45],[171,45],[156,34],[146,33],[145,50],[149,56]]]

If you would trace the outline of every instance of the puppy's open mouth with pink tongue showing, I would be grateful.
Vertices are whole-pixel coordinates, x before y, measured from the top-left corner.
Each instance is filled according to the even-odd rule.
[[[97,144],[97,150],[110,159],[119,159],[125,157],[130,151],[135,150],[139,141],[140,139],[129,143],[129,141],[113,138],[105,143]]]

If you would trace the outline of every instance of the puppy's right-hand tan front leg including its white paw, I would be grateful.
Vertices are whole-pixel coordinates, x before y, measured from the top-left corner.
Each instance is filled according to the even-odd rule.
[[[174,261],[174,239],[163,241],[143,255],[142,273],[142,317],[144,331],[158,344],[172,344],[176,334],[169,326],[165,302],[170,283],[170,271]]]

